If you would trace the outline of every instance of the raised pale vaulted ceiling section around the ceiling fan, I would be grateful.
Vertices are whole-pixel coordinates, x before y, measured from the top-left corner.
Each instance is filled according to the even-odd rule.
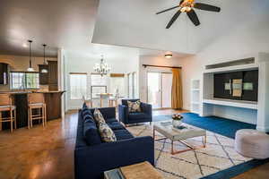
[[[263,22],[269,22],[268,0],[196,0],[221,7],[221,13],[195,10],[201,21],[197,27],[189,21],[187,14],[181,14],[178,21],[166,30],[177,9],[159,15],[155,13],[179,2],[100,0],[92,42],[196,54],[217,38],[240,29],[248,21],[260,22],[264,28],[266,25]]]

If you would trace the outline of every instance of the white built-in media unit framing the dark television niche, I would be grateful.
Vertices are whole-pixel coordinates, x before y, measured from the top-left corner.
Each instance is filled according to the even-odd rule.
[[[200,116],[216,115],[244,123],[256,124],[257,130],[269,132],[269,54],[256,53],[237,59],[242,59],[240,61],[246,61],[246,63],[234,64],[237,61],[235,60],[224,62],[233,65],[208,64],[205,66],[200,84]],[[257,102],[213,98],[213,75],[215,73],[247,70],[258,70],[259,72]]]

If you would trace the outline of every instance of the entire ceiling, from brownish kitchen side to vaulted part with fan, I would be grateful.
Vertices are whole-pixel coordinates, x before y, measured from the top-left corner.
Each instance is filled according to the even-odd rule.
[[[22,44],[33,39],[35,55],[42,55],[41,45],[46,43],[50,56],[56,56],[61,47],[96,55],[120,54],[124,47],[134,47],[152,49],[140,49],[141,55],[174,51],[184,56],[203,50],[247,21],[259,19],[261,28],[267,28],[263,22],[269,22],[268,0],[196,2],[220,6],[221,13],[197,10],[198,27],[181,14],[166,30],[177,10],[155,13],[177,5],[179,0],[1,0],[0,54],[28,55],[28,48]]]

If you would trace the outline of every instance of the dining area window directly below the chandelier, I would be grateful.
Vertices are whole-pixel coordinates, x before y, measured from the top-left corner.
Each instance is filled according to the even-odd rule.
[[[98,94],[107,93],[107,77],[91,74],[91,98],[100,98]]]

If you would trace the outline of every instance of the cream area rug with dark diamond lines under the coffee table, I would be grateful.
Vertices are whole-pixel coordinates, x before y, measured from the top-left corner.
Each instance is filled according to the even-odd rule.
[[[148,124],[127,128],[134,136],[152,136],[152,126]],[[171,155],[171,141],[155,141],[155,166],[167,179],[197,179],[212,175],[231,166],[245,163],[252,158],[244,158],[233,148],[234,140],[214,132],[207,133],[206,148],[189,150]],[[161,136],[157,132],[158,137]],[[186,140],[194,146],[202,145],[202,137]],[[187,149],[184,144],[174,142],[177,150]]]

